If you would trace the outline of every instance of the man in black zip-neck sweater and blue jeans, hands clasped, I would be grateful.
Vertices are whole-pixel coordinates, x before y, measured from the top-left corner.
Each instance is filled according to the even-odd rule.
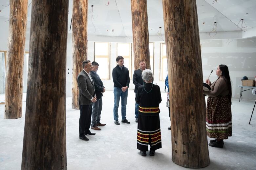
[[[130,76],[128,68],[124,67],[123,65],[123,57],[117,56],[117,66],[112,71],[112,77],[114,81],[114,120],[116,125],[120,125],[118,122],[118,107],[119,107],[119,100],[121,97],[121,113],[122,113],[122,123],[127,123],[128,120],[126,119],[126,103],[127,103],[127,96],[128,96],[128,87],[130,84]]]

